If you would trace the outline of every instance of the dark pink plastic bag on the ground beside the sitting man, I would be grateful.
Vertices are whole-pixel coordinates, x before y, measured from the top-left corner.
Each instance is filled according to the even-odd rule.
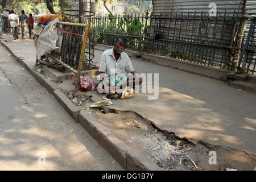
[[[76,75],[74,75],[71,80],[76,84]],[[97,89],[97,84],[87,76],[80,76],[79,88],[85,91],[92,91]]]

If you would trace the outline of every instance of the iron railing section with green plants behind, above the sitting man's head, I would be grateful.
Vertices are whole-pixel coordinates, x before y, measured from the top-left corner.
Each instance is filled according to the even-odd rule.
[[[96,32],[96,42],[113,45],[115,38],[125,35],[130,43],[127,49],[139,50],[144,47],[142,44],[144,32],[149,29],[148,13],[96,16],[92,18],[92,28]],[[142,40],[143,39],[143,40]]]

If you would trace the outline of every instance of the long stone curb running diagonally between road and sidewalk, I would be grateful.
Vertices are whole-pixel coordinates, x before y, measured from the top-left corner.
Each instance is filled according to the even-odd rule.
[[[2,42],[1,42],[2,43]],[[71,117],[79,123],[93,138],[95,138],[110,155],[126,170],[129,171],[162,171],[163,169],[152,163],[150,159],[141,153],[131,150],[126,143],[119,140],[114,133],[107,127],[101,125],[100,122],[92,117],[86,110],[80,110],[78,106],[74,105],[63,92],[59,86],[48,81],[46,76],[41,75],[35,71],[30,65],[26,64],[26,60],[20,59],[16,56],[5,43],[2,43],[15,59],[27,69],[28,72],[44,86],[51,93],[61,106],[71,115]]]

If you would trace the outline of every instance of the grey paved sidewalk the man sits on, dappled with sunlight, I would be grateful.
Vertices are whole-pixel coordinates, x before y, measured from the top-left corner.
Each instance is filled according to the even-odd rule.
[[[11,35],[3,35],[0,40],[29,68],[35,68],[33,40],[13,40]],[[100,63],[100,55],[106,48],[102,47],[95,47],[94,62]],[[220,80],[150,63],[136,56],[132,56],[131,61],[135,71],[146,75],[147,83],[152,81],[150,75],[152,78],[159,76],[159,92],[156,89],[158,85],[155,89],[147,86],[147,93],[142,93],[142,89],[132,98],[113,101],[111,108],[133,110],[160,130],[175,133],[180,138],[202,140],[256,154],[255,93],[234,88]],[[69,86],[75,88],[72,84]],[[102,100],[97,91],[91,94],[97,101]],[[156,99],[148,99],[154,94]]]

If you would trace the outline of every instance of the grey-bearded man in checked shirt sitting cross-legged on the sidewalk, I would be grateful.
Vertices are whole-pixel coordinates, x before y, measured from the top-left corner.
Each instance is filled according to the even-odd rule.
[[[117,89],[142,84],[142,77],[135,72],[129,56],[123,52],[129,40],[118,36],[112,49],[104,51],[100,61],[100,75],[97,81],[98,93],[114,94]]]

